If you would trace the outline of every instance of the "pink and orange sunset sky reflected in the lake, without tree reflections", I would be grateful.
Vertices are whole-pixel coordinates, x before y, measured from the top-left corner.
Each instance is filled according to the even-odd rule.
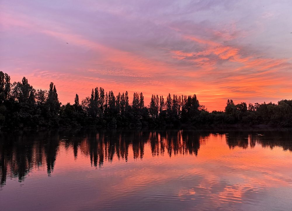
[[[291,151],[283,151],[282,146],[263,147],[262,141],[251,143],[251,139],[272,140],[272,137],[201,136],[196,156],[183,153],[186,138],[181,139],[180,134],[169,135],[170,142],[165,136],[160,139],[160,134],[154,134],[151,139],[150,134],[152,143],[144,141],[142,159],[133,158],[135,147],[129,140],[127,162],[117,157],[117,149],[125,145],[118,137],[109,140],[120,141],[106,145],[83,137],[75,158],[72,145],[61,143],[56,148],[50,177],[44,164],[34,166],[21,183],[8,179],[0,191],[1,205],[5,210],[9,206],[11,209],[33,206],[36,210],[40,207],[48,210],[287,210],[292,206],[289,198]],[[230,137],[234,138],[234,147],[228,146]],[[77,135],[75,138],[78,139]],[[94,140],[93,136],[90,139]],[[157,154],[153,153],[153,143],[157,145]],[[162,143],[163,154],[160,153]],[[101,167],[90,163],[92,144],[97,146],[95,150],[104,148],[105,160]],[[175,150],[174,145],[178,146],[178,153],[172,152],[170,156],[167,150]],[[116,149],[112,161],[107,159],[109,147]]]

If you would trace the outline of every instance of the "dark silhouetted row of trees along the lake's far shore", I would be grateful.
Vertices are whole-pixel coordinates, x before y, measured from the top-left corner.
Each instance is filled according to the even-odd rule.
[[[165,125],[271,125],[292,126],[292,100],[275,103],[235,104],[228,99],[224,111],[208,112],[197,96],[153,94],[145,105],[141,93],[114,95],[95,87],[91,95],[74,104],[62,105],[53,82],[48,90],[34,89],[23,77],[21,82],[10,82],[10,76],[0,71],[0,127],[102,127],[137,128]]]

